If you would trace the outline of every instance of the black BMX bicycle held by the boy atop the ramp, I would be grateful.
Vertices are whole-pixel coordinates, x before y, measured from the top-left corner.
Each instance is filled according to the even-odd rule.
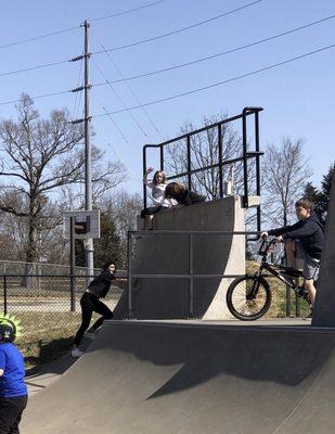
[[[299,286],[294,279],[302,277],[302,271],[283,265],[272,264],[268,257],[274,244],[279,241],[263,238],[258,254],[261,256],[259,269],[254,275],[236,278],[227,291],[227,306],[230,312],[242,321],[254,321],[267,314],[271,306],[272,295],[267,280],[269,271],[272,276],[288,285],[298,297],[302,297],[311,308],[307,291]]]

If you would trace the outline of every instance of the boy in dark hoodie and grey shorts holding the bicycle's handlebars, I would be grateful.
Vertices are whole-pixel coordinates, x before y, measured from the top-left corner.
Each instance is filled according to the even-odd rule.
[[[323,246],[323,226],[313,213],[313,204],[308,199],[299,199],[296,204],[299,219],[295,225],[271,229],[262,232],[262,237],[274,235],[279,241],[298,240],[304,252],[304,286],[312,305],[315,301],[314,281],[318,280],[320,259]]]

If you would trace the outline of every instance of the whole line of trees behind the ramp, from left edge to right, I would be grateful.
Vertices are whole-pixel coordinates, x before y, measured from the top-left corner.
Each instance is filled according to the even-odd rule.
[[[85,209],[83,130],[73,125],[66,108],[54,110],[42,118],[34,101],[23,94],[16,106],[16,119],[0,120],[0,259],[68,264],[69,245],[63,237],[63,212]],[[220,114],[204,118],[209,126],[227,118]],[[194,130],[185,123],[181,133]],[[221,129],[223,158],[242,156],[242,137],[230,124]],[[248,144],[249,146],[249,144]],[[219,151],[217,129],[191,137],[191,166],[197,169],[216,165]],[[294,204],[302,195],[315,204],[324,220],[330,200],[331,166],[318,189],[310,181],[312,169],[304,152],[304,140],[283,138],[268,143],[261,158],[261,209],[263,226],[287,225],[295,218]],[[166,149],[168,175],[188,169],[185,141]],[[119,267],[127,264],[127,231],[136,229],[142,207],[139,193],[121,188],[126,167],[94,143],[92,149],[93,207],[101,210],[101,239],[94,240],[96,267],[111,258]],[[248,164],[250,194],[255,194],[255,162]],[[223,167],[226,194],[243,194],[243,164]],[[192,189],[207,200],[220,195],[218,167],[192,176]],[[186,177],[179,181],[188,184]],[[247,214],[247,228],[255,229],[255,212]],[[81,241],[76,242],[76,264],[85,265]]]

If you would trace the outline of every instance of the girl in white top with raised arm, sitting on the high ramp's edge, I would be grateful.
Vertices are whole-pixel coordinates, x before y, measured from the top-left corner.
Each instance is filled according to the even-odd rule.
[[[177,202],[173,203],[173,201],[165,197],[165,189],[167,187],[165,173],[163,170],[157,170],[153,179],[149,180],[147,175],[152,171],[152,167],[146,170],[143,176],[143,183],[152,189],[152,199],[154,206],[150,206],[141,210],[141,218],[146,218],[146,216],[149,216],[147,226],[150,229],[152,228],[152,220],[155,214],[159,213],[163,209],[168,209],[177,204]]]

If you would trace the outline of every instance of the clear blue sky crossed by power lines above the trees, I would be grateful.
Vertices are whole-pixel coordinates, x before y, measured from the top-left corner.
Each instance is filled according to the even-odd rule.
[[[77,27],[64,34],[27,43],[0,48],[0,74],[72,59],[82,52],[83,20],[91,21],[91,51],[114,48],[190,26],[250,3],[253,0],[165,0],[113,18],[95,20],[153,2],[153,0],[106,1],[2,1],[0,46]],[[132,48],[92,56],[91,82],[144,74],[227,51],[335,14],[331,0],[261,0],[208,24]],[[335,43],[335,18],[292,35],[207,62],[128,81],[143,104],[227,80],[271,64]],[[247,105],[263,106],[261,148],[284,136],[305,138],[319,184],[334,152],[335,48],[297,62],[245,77],[184,98],[108,116],[93,118],[94,142],[111,159],[120,157],[129,170],[129,191],[141,190],[144,143],[155,143],[180,132],[185,122],[203,125],[203,117],[235,115]],[[113,63],[111,59],[113,60]],[[1,77],[0,102],[16,100],[25,91],[31,97],[66,91],[80,85],[79,62]],[[118,71],[115,65],[117,65]],[[125,84],[93,87],[91,114],[138,105]],[[81,100],[82,101],[82,100]],[[37,99],[43,116],[54,107],[68,107],[78,115],[75,93]],[[14,116],[13,104],[0,105],[0,117]],[[80,116],[80,115],[79,115]],[[117,127],[116,127],[116,126]],[[157,131],[158,130],[158,131]],[[121,131],[121,133],[120,133]]]

